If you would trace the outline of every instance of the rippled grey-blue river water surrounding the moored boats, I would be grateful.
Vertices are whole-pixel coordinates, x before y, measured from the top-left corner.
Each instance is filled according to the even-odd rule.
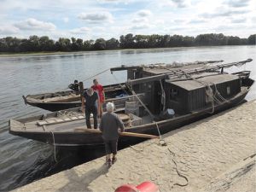
[[[172,61],[253,61],[229,72],[251,70],[256,79],[256,46],[221,46],[173,49],[127,49],[75,52],[64,55],[22,55],[0,57],[0,191],[15,189],[40,177],[79,165],[101,153],[81,154],[76,149],[60,150],[55,163],[53,148],[44,143],[15,137],[8,132],[8,120],[47,111],[25,106],[21,96],[67,89],[74,79],[82,81],[109,67]],[[102,84],[125,81],[125,73],[102,73]],[[91,79],[85,86],[91,84]],[[256,87],[247,100],[256,98]],[[90,154],[90,155],[89,155]],[[93,155],[92,155],[93,154]]]

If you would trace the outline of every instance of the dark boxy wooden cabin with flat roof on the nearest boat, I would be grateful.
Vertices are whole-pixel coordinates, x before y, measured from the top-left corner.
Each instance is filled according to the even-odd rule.
[[[224,102],[241,91],[241,79],[226,73],[203,73],[194,79],[166,79],[166,108],[175,113],[192,113],[206,108],[212,100]]]

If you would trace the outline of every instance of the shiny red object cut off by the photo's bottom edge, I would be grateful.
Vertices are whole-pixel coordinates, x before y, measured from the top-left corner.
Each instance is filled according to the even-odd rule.
[[[139,185],[134,186],[132,184],[123,184],[119,188],[115,189],[114,192],[157,192],[159,188],[152,182],[143,182]]]

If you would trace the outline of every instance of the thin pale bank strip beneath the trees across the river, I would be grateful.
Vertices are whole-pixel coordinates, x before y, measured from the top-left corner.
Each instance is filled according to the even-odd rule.
[[[169,47],[169,48],[143,48],[143,49],[105,49],[105,50],[78,50],[78,51],[49,51],[49,52],[21,52],[21,53],[5,53],[0,52],[0,57],[9,56],[26,56],[26,55],[68,55],[85,52],[99,52],[99,51],[113,51],[113,50],[147,50],[147,49],[195,49],[195,48],[207,48],[207,47],[233,47],[233,46],[253,46],[253,45],[208,45],[208,46],[191,46],[191,47]]]

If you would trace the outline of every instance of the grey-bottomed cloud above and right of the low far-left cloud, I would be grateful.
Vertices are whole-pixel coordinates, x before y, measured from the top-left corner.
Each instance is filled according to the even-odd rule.
[[[86,20],[92,23],[108,21],[111,22],[113,20],[113,16],[109,12],[102,13],[81,13],[79,14],[80,20]]]

